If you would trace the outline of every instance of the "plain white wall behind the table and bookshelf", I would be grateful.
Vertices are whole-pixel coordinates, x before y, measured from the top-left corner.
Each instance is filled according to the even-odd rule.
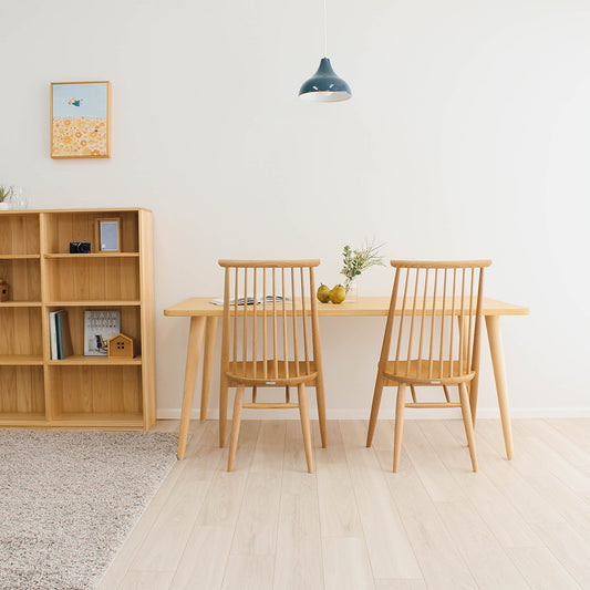
[[[531,309],[503,321],[515,413],[589,415],[590,2],[329,8],[354,95],[323,105],[297,99],[320,0],[0,0],[0,180],[38,208],[153,209],[161,416],[187,337],[162,311],[219,294],[217,258],[318,256],[333,282],[372,236],[389,257],[493,258],[487,294]],[[49,157],[49,84],[77,80],[113,83],[111,159]],[[391,281],[374,269],[363,293]],[[383,321],[321,328],[329,415],[368,416]],[[487,353],[483,371],[489,414]]]

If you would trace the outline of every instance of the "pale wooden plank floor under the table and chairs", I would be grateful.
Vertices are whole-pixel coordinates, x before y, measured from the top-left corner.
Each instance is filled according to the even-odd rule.
[[[329,422],[306,472],[298,421],[242,423],[236,470],[217,423],[178,462],[103,579],[114,589],[590,588],[590,420],[479,420],[479,473],[460,421],[406,421],[365,448],[366,422]],[[172,431],[178,423],[159,422]]]

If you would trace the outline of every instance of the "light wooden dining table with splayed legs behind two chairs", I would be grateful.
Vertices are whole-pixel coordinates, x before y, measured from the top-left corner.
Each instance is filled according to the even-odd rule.
[[[452,298],[447,298],[449,301]],[[321,318],[358,318],[358,317],[386,317],[390,309],[390,297],[362,297],[354,302],[343,302],[340,304],[319,303],[318,314]],[[420,301],[420,299],[418,299]],[[396,315],[402,314],[402,301],[398,301],[398,309],[396,308]],[[445,304],[443,308],[442,298],[426,298],[425,301],[418,303],[420,310],[423,308],[426,315],[433,313],[439,315],[442,309],[451,312],[452,306]],[[456,306],[456,314],[459,314],[460,306]],[[309,310],[309,306],[307,308]],[[299,308],[299,312],[301,308]],[[405,310],[404,313],[410,314],[411,310]],[[522,306],[514,303],[506,303],[495,299],[484,298],[483,314],[486,320],[487,339],[489,343],[489,352],[491,355],[491,365],[494,369],[494,379],[496,382],[496,393],[498,396],[498,406],[500,411],[501,427],[504,433],[504,442],[506,446],[506,456],[513,458],[513,432],[510,427],[510,412],[508,406],[508,392],[506,385],[506,369],[504,362],[504,351],[500,334],[500,318],[503,315],[527,315],[529,310]],[[224,307],[211,303],[210,297],[195,297],[176,303],[170,308],[164,310],[164,315],[169,318],[190,318],[190,328],[188,332],[188,349],[186,355],[186,371],[185,383],[183,392],[183,406],[180,413],[180,432],[178,438],[179,459],[184,458],[186,451],[186,441],[188,436],[188,425],[190,422],[190,413],[193,408],[193,400],[195,396],[195,386],[197,383],[198,365],[200,360],[200,352],[205,343],[204,360],[203,360],[203,384],[200,393],[200,420],[207,418],[207,406],[209,401],[209,389],[211,383],[211,368],[215,351],[215,342],[217,338],[217,324],[219,318],[224,314]],[[472,414],[475,418],[477,408],[477,389],[478,382],[474,380],[469,390],[469,401],[472,404]],[[227,391],[220,392],[220,395],[227,396]],[[323,403],[323,383],[321,391],[318,391],[318,412],[320,423],[325,425],[325,405]],[[322,427],[325,433],[325,428]],[[220,436],[220,444],[225,444],[225,428]],[[325,447],[328,441],[325,436],[322,437],[322,446]]]

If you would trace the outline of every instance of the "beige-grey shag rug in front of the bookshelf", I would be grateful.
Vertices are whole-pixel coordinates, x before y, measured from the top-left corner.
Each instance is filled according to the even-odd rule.
[[[177,441],[0,431],[0,588],[96,588],[174,465]]]

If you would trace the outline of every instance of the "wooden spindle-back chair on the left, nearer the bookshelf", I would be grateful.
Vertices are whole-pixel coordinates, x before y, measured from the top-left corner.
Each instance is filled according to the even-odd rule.
[[[237,387],[229,444],[234,469],[242,408],[299,408],[309,473],[313,473],[306,386],[321,381],[313,269],[320,260],[219,260],[225,270],[221,387]],[[232,293],[232,294],[231,294]],[[240,306],[250,297],[256,304]],[[244,403],[252,387],[251,403]],[[258,387],[284,387],[284,402],[258,402]],[[297,387],[298,402],[290,387]],[[323,389],[321,391],[323,396]]]

